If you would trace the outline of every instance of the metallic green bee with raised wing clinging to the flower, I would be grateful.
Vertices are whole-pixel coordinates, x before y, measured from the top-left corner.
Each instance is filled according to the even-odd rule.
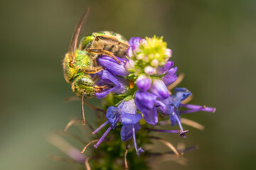
[[[63,60],[65,81],[71,84],[73,92],[82,98],[83,125],[85,125],[84,98],[95,97],[95,93],[100,93],[108,87],[107,84],[97,86],[97,76],[92,77],[93,74],[101,72],[104,69],[98,66],[97,57],[108,55],[114,58],[114,60],[117,60],[116,56],[124,57],[129,47],[127,40],[122,35],[111,31],[102,31],[87,35],[82,38],[80,45],[78,45],[80,30],[87,23],[89,13],[90,8],[88,7],[75,28],[68,52],[65,54]]]

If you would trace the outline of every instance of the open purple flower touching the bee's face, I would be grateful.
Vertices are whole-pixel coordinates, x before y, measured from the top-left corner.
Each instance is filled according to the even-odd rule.
[[[127,92],[128,81],[121,77],[113,75],[107,69],[99,73],[100,81],[97,82],[98,86],[107,86],[101,93],[96,93],[97,98],[105,98],[111,91],[117,94],[124,94]]]

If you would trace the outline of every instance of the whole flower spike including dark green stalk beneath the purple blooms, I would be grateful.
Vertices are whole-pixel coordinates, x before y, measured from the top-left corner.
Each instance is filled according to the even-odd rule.
[[[150,169],[146,159],[155,154],[144,146],[151,144],[151,139],[160,139],[153,136],[154,132],[178,133],[186,137],[188,130],[183,129],[181,115],[215,112],[215,108],[185,103],[192,95],[186,88],[176,87],[169,91],[169,86],[177,80],[178,69],[170,61],[171,57],[172,51],[163,38],[154,36],[131,38],[127,55],[117,57],[120,63],[107,55],[98,59],[105,69],[97,73],[97,86],[105,85],[106,88],[98,91],[96,96],[104,98],[106,113],[103,120],[97,120],[99,126],[92,132],[97,135],[91,153],[95,159],[90,159],[93,169],[102,166],[120,169],[118,162],[121,157],[124,157],[122,167],[125,164],[131,169]],[[167,119],[171,124],[169,128],[159,128],[159,120]],[[163,141],[178,156],[181,154],[161,139]]]

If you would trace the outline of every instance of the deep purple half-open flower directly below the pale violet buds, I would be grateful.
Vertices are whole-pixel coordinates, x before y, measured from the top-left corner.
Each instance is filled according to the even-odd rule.
[[[139,111],[144,115],[144,119],[151,125],[156,125],[158,116],[156,107],[161,111],[166,111],[166,106],[161,101],[157,100],[157,96],[147,91],[137,91],[135,94],[135,104]]]

